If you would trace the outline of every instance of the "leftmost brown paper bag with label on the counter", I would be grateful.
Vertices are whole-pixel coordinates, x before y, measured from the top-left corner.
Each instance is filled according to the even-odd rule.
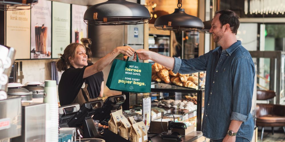
[[[121,124],[121,120],[124,119],[125,116],[120,115],[118,112],[112,112],[111,113],[111,119],[109,120],[108,124],[109,127],[108,129],[116,134],[118,133],[118,126],[120,126]]]

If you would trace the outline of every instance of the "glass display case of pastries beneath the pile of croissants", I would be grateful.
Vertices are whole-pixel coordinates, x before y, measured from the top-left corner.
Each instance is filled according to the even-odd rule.
[[[123,110],[131,108],[140,110],[142,108],[142,97],[151,94],[152,111],[162,112],[159,115],[160,117],[156,117],[157,119],[161,119],[165,113],[172,113],[176,121],[184,122],[186,125],[189,122],[196,125],[196,131],[201,131],[205,93],[203,88],[191,89],[173,84],[152,82],[151,93],[122,93],[126,95],[125,103],[122,105]],[[163,118],[171,117],[173,116]],[[152,120],[154,119],[152,118]],[[150,127],[152,127],[152,123]]]

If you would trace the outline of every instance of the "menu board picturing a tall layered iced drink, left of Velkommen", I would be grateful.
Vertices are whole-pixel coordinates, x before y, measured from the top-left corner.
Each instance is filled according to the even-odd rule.
[[[51,58],[51,6],[41,0],[31,9],[31,59]]]

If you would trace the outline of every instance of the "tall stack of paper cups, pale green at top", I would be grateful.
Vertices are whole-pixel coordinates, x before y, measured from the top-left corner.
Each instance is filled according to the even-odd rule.
[[[45,80],[46,141],[58,142],[58,99],[55,80]]]

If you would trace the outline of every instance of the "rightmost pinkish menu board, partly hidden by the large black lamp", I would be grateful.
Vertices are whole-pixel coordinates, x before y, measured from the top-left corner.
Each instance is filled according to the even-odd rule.
[[[81,38],[87,37],[87,24],[83,21],[83,16],[87,6],[72,5],[72,42],[82,43]]]

